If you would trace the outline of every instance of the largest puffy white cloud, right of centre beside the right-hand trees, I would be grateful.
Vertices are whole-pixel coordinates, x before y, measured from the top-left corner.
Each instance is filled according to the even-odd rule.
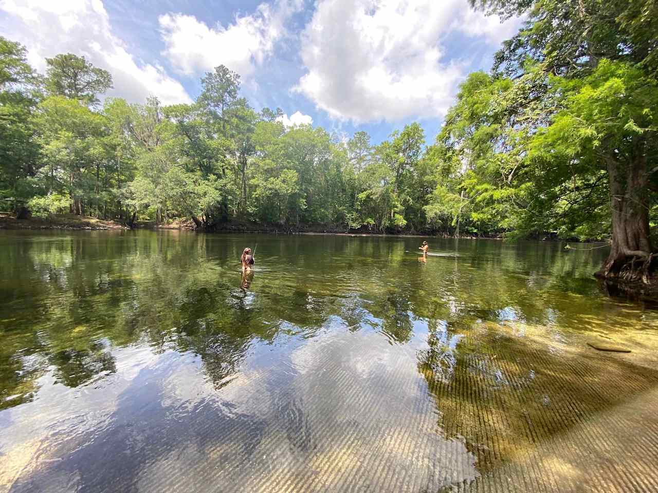
[[[464,0],[320,0],[301,35],[307,73],[293,90],[356,123],[442,116],[472,55],[446,62],[450,35],[497,45],[517,26]]]

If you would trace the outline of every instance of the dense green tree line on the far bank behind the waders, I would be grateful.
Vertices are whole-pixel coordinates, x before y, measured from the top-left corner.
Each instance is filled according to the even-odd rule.
[[[230,220],[370,231],[428,231],[424,206],[435,168],[418,124],[372,145],[322,128],[285,128],[282,111],[257,112],[240,76],[218,66],[190,105],[143,105],[99,95],[111,75],[70,53],[45,76],[24,47],[3,39],[6,208],[124,220],[192,220],[212,230]],[[449,218],[445,225],[449,226]]]

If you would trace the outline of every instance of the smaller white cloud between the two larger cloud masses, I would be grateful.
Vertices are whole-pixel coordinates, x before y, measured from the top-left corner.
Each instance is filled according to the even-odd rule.
[[[208,27],[195,16],[168,13],[159,16],[166,48],[163,55],[183,74],[197,74],[226,65],[249,76],[274,51],[287,32],[285,23],[301,8],[301,0],[261,3],[253,14],[236,16],[228,27]]]

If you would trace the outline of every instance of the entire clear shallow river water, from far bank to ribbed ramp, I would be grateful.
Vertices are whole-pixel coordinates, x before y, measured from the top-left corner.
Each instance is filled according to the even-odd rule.
[[[658,489],[658,312],[605,251],[418,245],[0,232],[0,491]]]

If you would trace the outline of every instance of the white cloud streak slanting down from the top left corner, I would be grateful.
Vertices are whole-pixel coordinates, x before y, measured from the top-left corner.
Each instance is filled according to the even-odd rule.
[[[114,89],[108,95],[142,102],[155,95],[164,104],[189,103],[180,82],[159,64],[141,63],[113,33],[101,0],[4,0],[0,11],[12,20],[9,37],[28,48],[28,60],[45,70],[45,58],[58,53],[84,55],[108,70]]]

